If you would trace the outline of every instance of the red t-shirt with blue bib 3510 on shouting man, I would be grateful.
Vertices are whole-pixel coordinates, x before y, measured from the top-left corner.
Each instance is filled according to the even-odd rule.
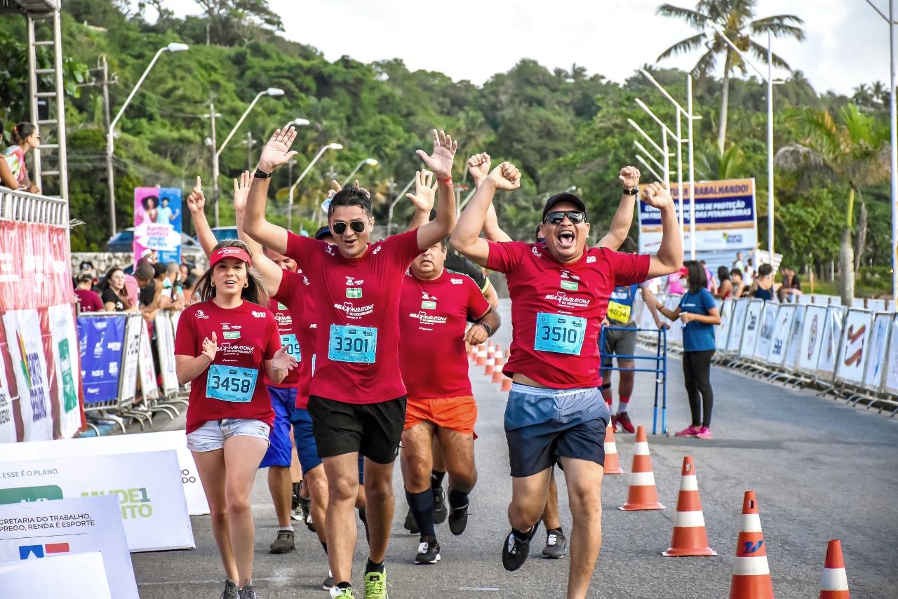
[[[586,248],[572,264],[553,259],[545,243],[488,242],[487,268],[506,274],[515,330],[503,372],[553,389],[602,384],[599,329],[616,286],[646,280],[647,254]]]

